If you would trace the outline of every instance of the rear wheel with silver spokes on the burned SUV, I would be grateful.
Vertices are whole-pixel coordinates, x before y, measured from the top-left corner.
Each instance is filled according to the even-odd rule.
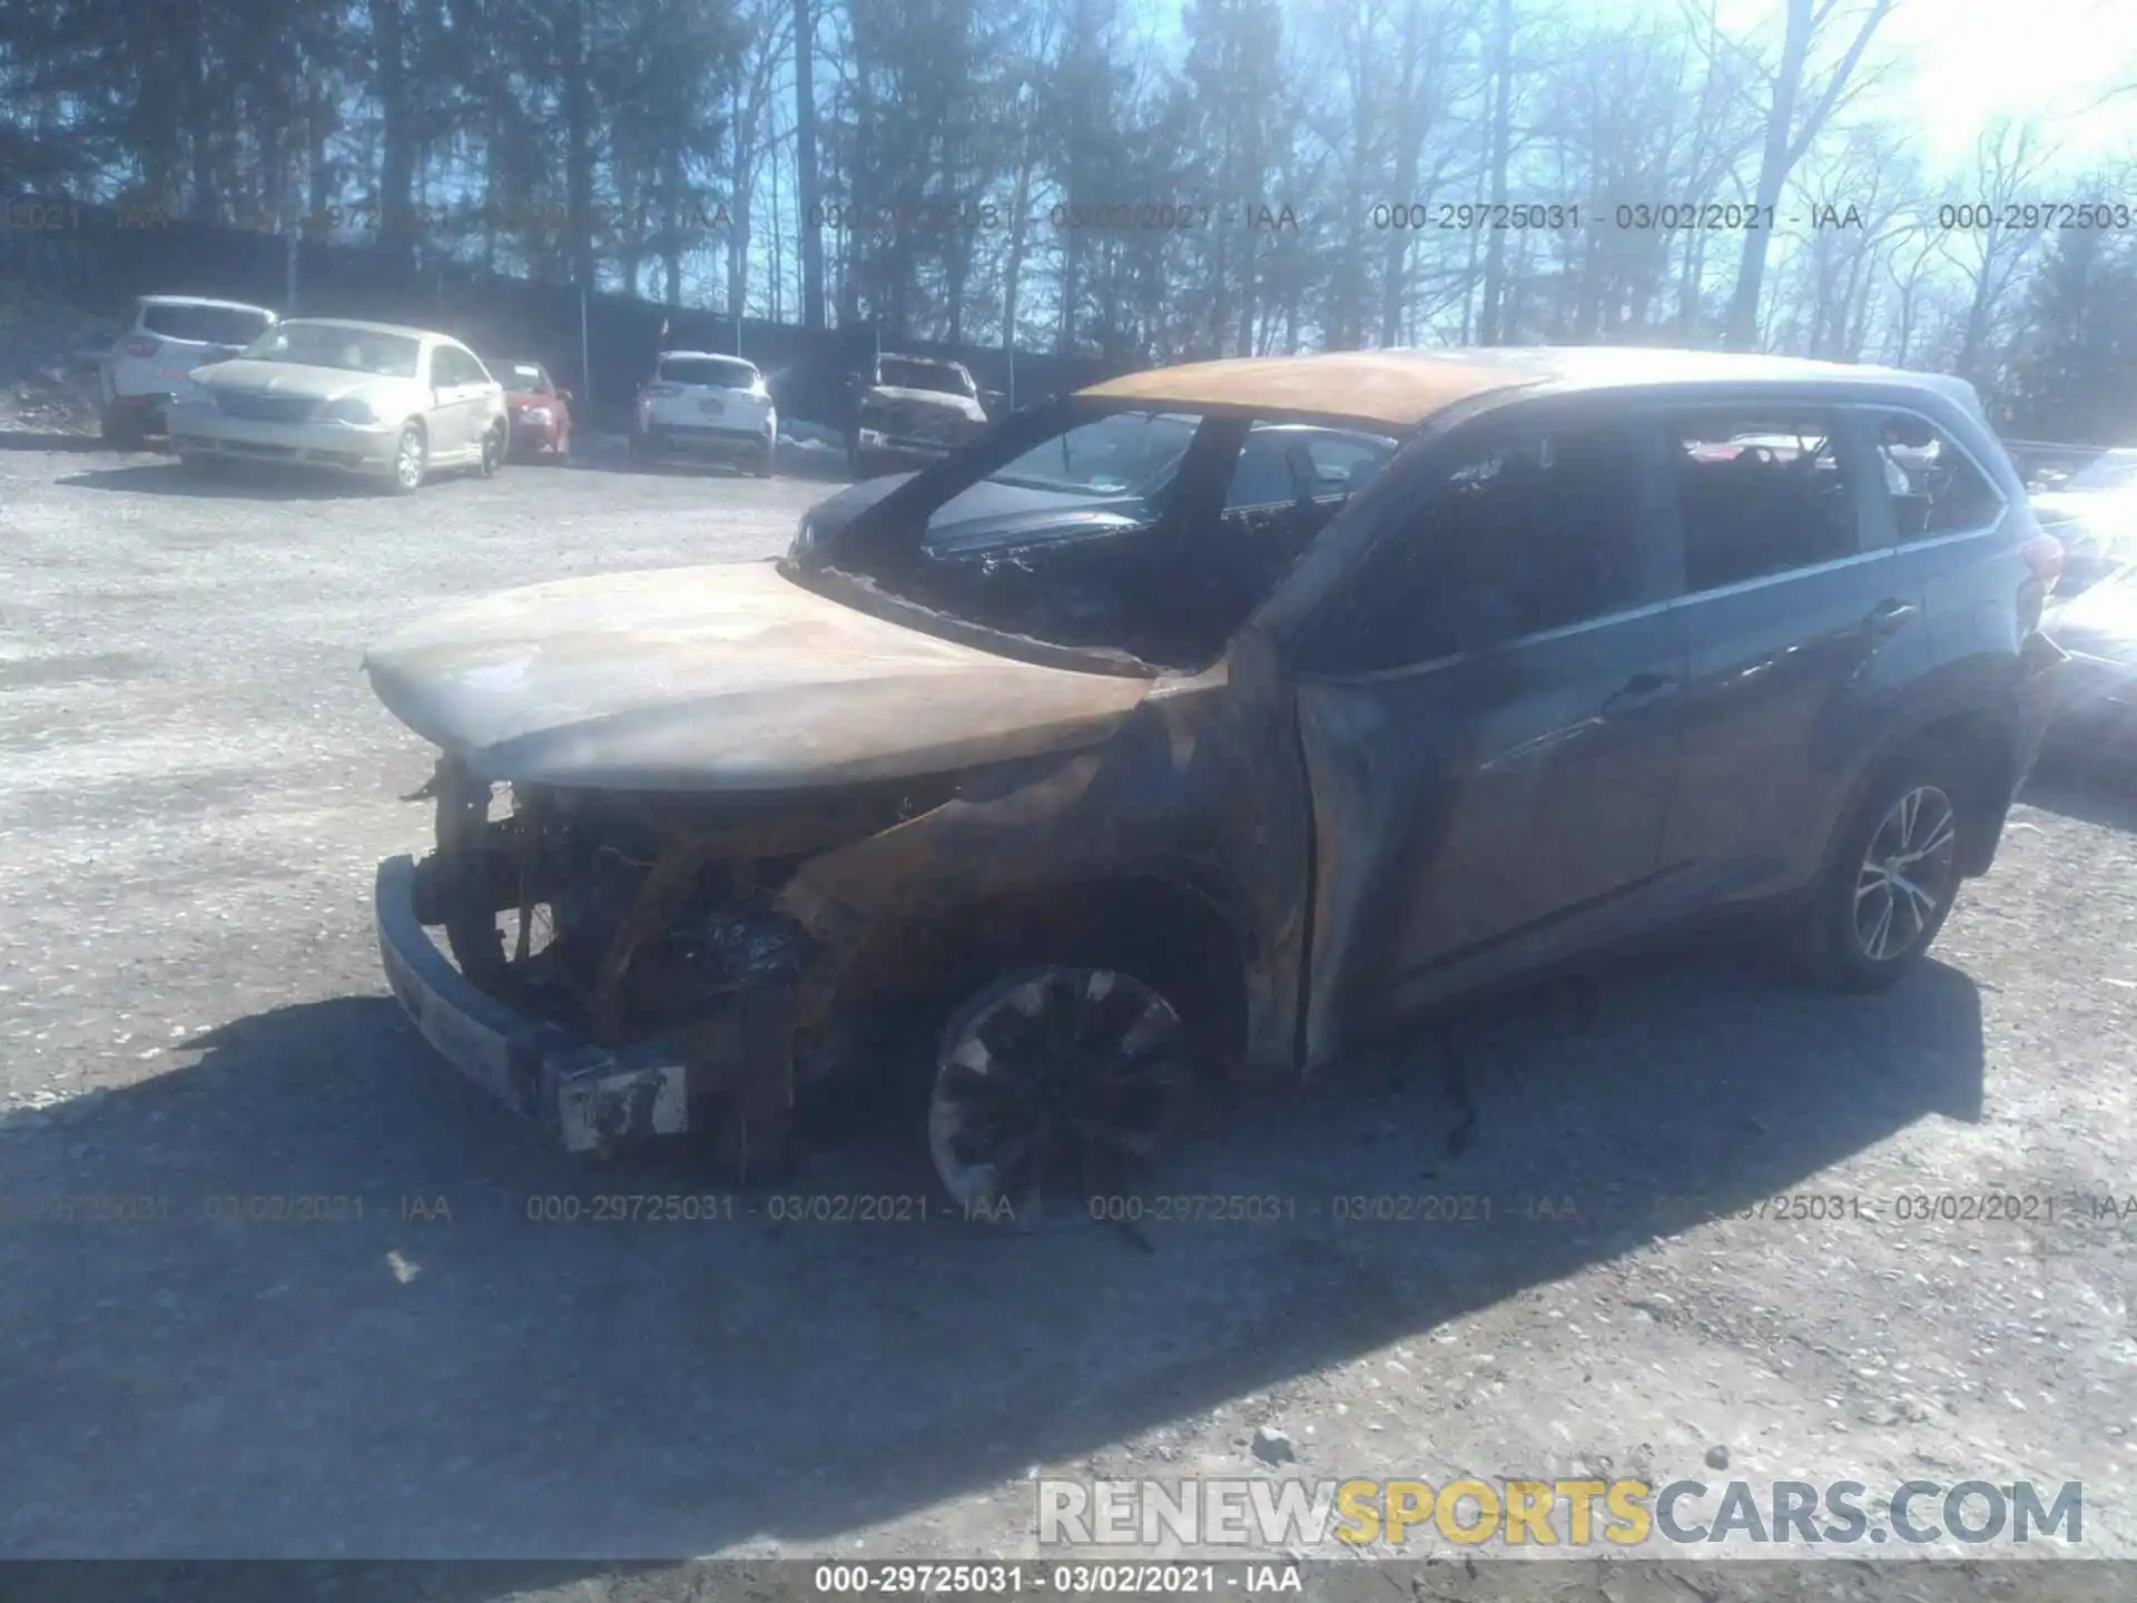
[[[1970,795],[1936,750],[1902,752],[1883,769],[1801,915],[1795,945],[1812,979],[1881,992],[1921,968],[1960,896]]]

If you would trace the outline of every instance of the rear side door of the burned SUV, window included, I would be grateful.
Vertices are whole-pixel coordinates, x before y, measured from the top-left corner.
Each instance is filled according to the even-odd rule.
[[[1919,671],[1919,575],[1881,528],[1889,492],[1842,406],[1654,415],[1690,650],[1665,855],[1684,896],[1735,900],[1816,872],[1834,793]]]

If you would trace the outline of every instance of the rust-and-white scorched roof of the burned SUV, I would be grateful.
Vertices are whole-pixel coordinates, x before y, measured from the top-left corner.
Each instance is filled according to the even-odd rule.
[[[1079,391],[1098,400],[1143,400],[1195,410],[1254,406],[1410,427],[1445,406],[1530,385],[1616,387],[1675,383],[1951,383],[1799,357],[1637,346],[1457,346],[1447,351],[1329,351],[1312,357],[1235,357],[1152,368]]]

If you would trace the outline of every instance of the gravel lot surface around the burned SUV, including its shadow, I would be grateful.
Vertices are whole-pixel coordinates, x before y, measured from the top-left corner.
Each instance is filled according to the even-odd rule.
[[[1891,996],[1626,960],[1586,1028],[1468,1026],[1460,1154],[1432,1073],[1235,1109],[1169,1188],[1276,1220],[1148,1252],[763,1197],[532,1223],[705,1182],[545,1150],[402,1022],[368,898],[423,844],[395,797],[427,757],[359,652],[447,596],[769,554],[827,485],[524,468],[395,500],[66,445],[0,436],[0,1554],[556,1558],[543,1597],[686,1597],[603,1560],[1032,1554],[1032,1473],[1263,1475],[1261,1426],[1310,1477],[1853,1479],[1872,1513],[1906,1479],[2077,1479],[2079,1552],[2133,1552],[2131,1225],[2092,1201],[2137,1193],[2111,787],[2022,806]],[[891,1131],[791,1190],[932,1180]],[[1881,1218],[1735,1216],[1784,1193]],[[1981,1193],[2054,1218],[1893,1218]],[[1492,1216],[1344,1223],[1353,1195]],[[147,1216],[36,1216],[64,1197]],[[248,1216],[280,1197],[361,1218]],[[1415,1594],[1470,1597],[1451,1569]],[[513,1588],[462,1575],[436,1594]],[[1750,1594],[1654,1594],[1695,1592]]]

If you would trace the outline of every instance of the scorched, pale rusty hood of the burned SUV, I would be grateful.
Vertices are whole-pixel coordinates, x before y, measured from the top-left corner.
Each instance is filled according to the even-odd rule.
[[[786,791],[1103,740],[1148,680],[996,656],[769,562],[562,579],[455,603],[372,648],[402,722],[494,780]]]

